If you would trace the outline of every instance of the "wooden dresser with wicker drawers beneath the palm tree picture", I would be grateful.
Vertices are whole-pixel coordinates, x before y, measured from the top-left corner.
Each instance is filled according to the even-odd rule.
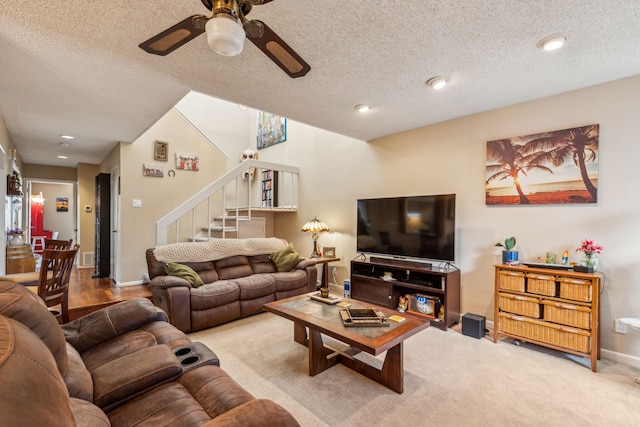
[[[500,334],[600,358],[599,274],[526,266],[495,266],[493,341]]]

